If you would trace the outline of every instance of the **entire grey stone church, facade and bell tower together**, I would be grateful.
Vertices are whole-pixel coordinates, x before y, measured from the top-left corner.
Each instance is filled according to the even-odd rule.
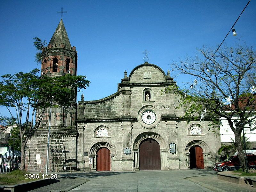
[[[61,20],[42,53],[46,75],[76,75],[76,49],[64,30]],[[169,71],[166,75],[157,65],[145,62],[129,76],[124,72],[116,93],[93,101],[84,101],[82,95],[78,105],[74,101],[69,107],[54,108],[52,169],[67,163],[92,171],[211,168],[217,161],[220,137],[208,131],[209,118],[200,121],[198,117],[189,124],[181,118],[185,109],[175,107],[180,95],[172,85],[176,82]],[[49,116],[47,109],[40,130],[27,145],[30,170],[38,169],[35,154],[46,158]],[[61,147],[62,152],[55,155]]]

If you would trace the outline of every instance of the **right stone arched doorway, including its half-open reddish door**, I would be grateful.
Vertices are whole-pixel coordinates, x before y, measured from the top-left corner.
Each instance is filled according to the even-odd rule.
[[[202,140],[193,140],[185,148],[187,164],[190,169],[204,169],[204,153],[209,151],[208,145]]]

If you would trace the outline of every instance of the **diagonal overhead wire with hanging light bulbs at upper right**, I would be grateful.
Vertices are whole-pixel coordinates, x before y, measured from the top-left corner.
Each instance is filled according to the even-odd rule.
[[[232,25],[232,27],[230,28],[230,30],[228,31],[227,35],[225,36],[225,38],[223,39],[223,41],[220,43],[220,45],[218,46],[218,48],[216,49],[216,51],[212,54],[211,58],[209,59],[209,61],[206,63],[205,67],[206,67],[206,70],[207,72],[210,71],[210,69],[208,68],[208,64],[209,62],[212,60],[213,56],[216,54],[216,52],[220,49],[220,46],[223,44],[223,42],[225,41],[225,39],[227,38],[228,34],[230,33],[230,31],[232,30],[233,32],[233,36],[236,36],[236,30],[234,29],[234,26],[236,24],[236,22],[239,20],[240,16],[242,15],[242,13],[244,12],[244,10],[246,9],[246,7],[248,6],[248,4],[250,3],[251,0],[248,1],[248,3],[245,5],[243,11],[240,13],[240,15],[238,16],[238,18],[236,19],[235,23]],[[193,88],[193,85],[196,85],[197,84],[197,79],[198,77],[204,72],[204,69],[200,72],[200,74],[196,77],[196,79],[194,80],[194,82],[190,85],[190,87],[186,90],[186,92],[184,93],[184,95],[186,95],[186,93],[188,92],[188,90],[190,88]],[[173,103],[173,106],[175,106],[175,104],[177,102],[180,101],[180,99],[182,98],[182,96],[176,101]]]

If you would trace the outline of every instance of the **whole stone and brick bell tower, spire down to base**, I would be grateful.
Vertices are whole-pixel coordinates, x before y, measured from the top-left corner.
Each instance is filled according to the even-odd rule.
[[[76,75],[77,52],[76,47],[71,47],[67,31],[62,19],[56,28],[49,44],[43,48],[41,54],[42,66],[41,76],[64,76],[66,74]],[[26,151],[26,164],[29,170],[39,171],[35,162],[36,154],[40,154],[42,166],[46,164],[47,134],[49,128],[49,117],[51,116],[50,150],[48,171],[63,169],[63,165],[77,164],[77,130],[76,130],[76,96],[69,106],[52,107],[44,111],[43,119],[39,129],[28,141],[29,148]],[[41,114],[37,110],[36,116]]]

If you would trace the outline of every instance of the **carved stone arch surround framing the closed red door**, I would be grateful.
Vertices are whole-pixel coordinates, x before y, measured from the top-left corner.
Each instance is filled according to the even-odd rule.
[[[103,150],[100,150],[102,148],[105,148]],[[108,150],[109,152],[108,152]],[[113,145],[111,145],[110,143],[107,143],[107,142],[98,142],[98,143],[95,143],[94,145],[92,145],[91,149],[90,149],[90,152],[89,152],[89,157],[92,158],[92,169],[94,170],[97,170],[97,155],[98,152],[100,151],[101,155],[105,155],[106,156],[106,153],[109,154],[110,156],[110,170],[111,170],[111,167],[112,167],[112,158],[111,157],[114,157],[116,156],[116,151],[115,151],[115,148],[113,147]]]

